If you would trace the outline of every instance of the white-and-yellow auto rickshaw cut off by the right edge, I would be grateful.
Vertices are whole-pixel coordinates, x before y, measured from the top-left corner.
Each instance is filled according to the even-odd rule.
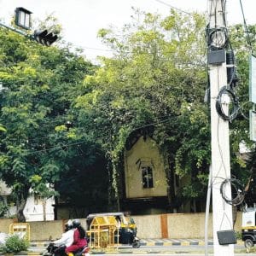
[[[241,240],[245,247],[253,247],[256,243],[256,208],[247,208],[241,216]]]

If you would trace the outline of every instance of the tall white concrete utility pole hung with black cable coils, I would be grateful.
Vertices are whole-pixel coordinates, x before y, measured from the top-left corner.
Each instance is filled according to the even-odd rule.
[[[208,0],[209,29],[225,27],[224,0]],[[222,40],[216,34],[215,40]],[[216,99],[219,90],[227,85],[227,69],[224,61],[212,61],[209,64],[210,90],[211,90],[211,133],[212,133],[212,221],[214,255],[233,256],[234,245],[219,245],[217,231],[233,230],[232,206],[227,204],[220,193],[221,183],[230,178],[230,137],[229,121],[222,119],[216,111]],[[208,55],[209,59],[209,55]],[[209,61],[208,61],[209,62]],[[209,62],[210,63],[210,62]],[[229,102],[222,101],[223,108],[228,113]],[[231,196],[230,183],[225,186],[225,195]],[[231,197],[230,197],[231,198]]]

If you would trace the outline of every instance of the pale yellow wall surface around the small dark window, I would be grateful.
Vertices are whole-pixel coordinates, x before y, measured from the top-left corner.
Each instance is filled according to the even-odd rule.
[[[143,165],[153,167],[154,188],[152,189],[143,189],[140,169]],[[146,140],[140,137],[131,150],[125,152],[125,189],[127,198],[167,195],[163,160],[156,143],[149,137]]]

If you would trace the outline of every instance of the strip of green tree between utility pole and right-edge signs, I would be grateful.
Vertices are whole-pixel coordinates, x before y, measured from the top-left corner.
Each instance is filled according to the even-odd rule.
[[[238,84],[235,88],[239,97],[240,109],[237,118],[231,123],[231,170],[244,187],[247,193],[244,204],[253,207],[256,194],[253,189],[255,172],[255,143],[249,137],[249,110],[253,109],[253,103],[249,102],[249,55],[256,49],[255,41],[256,25],[247,26],[247,32],[241,24],[230,27],[230,41],[236,57]],[[240,143],[247,148],[247,156],[241,157],[237,154]],[[244,205],[243,204],[243,205]]]

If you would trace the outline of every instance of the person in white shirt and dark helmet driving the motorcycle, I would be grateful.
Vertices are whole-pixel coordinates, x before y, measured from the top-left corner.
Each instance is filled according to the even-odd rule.
[[[65,233],[61,235],[61,238],[53,241],[55,247],[57,247],[54,251],[55,256],[66,255],[65,249],[66,247],[70,247],[73,244],[73,233],[74,233],[73,223],[69,219],[65,224]]]

